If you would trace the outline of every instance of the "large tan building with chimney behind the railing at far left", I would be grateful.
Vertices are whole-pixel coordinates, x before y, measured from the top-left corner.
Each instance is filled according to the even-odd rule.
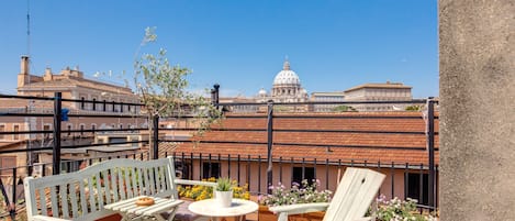
[[[46,68],[43,76],[30,73],[30,58],[21,57],[20,74],[18,74],[18,95],[33,97],[54,97],[55,92],[61,92],[63,99],[82,100],[81,102],[63,102],[63,108],[69,109],[69,114],[120,114],[132,115],[138,113],[138,106],[120,104],[138,103],[137,95],[127,87],[110,85],[97,80],[87,79],[79,68],[63,69],[59,74]],[[98,101],[97,103],[87,102]],[[53,101],[29,99],[0,99],[2,113],[53,113]],[[54,129],[52,118],[40,117],[1,117],[0,132],[16,131],[52,131]],[[146,119],[138,118],[70,118],[61,122],[61,145],[87,145],[93,142],[94,132],[87,130],[98,129],[130,129],[142,128]],[[71,130],[85,131],[72,133]],[[46,147],[52,145],[53,134],[13,134],[0,135],[0,150],[24,150],[31,147]],[[77,155],[76,151],[64,148],[63,159],[85,158],[87,152]],[[0,167],[24,166],[27,163],[47,163],[52,153],[29,154],[13,153],[0,155]],[[114,154],[114,153],[113,153]],[[14,163],[15,162],[15,163]],[[23,172],[21,172],[23,173]],[[0,173],[0,175],[2,175]]]

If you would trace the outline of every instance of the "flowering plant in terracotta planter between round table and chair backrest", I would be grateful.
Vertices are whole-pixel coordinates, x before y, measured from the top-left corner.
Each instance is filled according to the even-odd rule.
[[[298,205],[298,203],[310,203],[310,202],[328,202],[331,200],[331,190],[318,190],[320,180],[314,179],[312,184],[309,184],[307,179],[301,181],[301,184],[293,183],[290,189],[287,189],[284,185],[279,183],[277,186],[270,186],[271,194],[267,196],[259,196],[259,221],[277,220],[277,216],[268,210],[268,207],[283,206],[283,205]],[[315,221],[322,220],[325,212],[310,212],[305,214],[290,216],[288,220],[307,220]]]

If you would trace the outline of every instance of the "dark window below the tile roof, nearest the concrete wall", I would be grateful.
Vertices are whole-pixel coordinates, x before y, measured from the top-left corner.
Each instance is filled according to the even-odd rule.
[[[428,203],[428,174],[407,174],[407,180],[404,180],[407,186],[406,197],[416,199],[419,205]],[[422,184],[421,184],[422,183]]]

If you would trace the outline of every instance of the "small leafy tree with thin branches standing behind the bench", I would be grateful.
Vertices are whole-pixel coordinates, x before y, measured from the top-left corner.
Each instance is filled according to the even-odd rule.
[[[155,29],[147,27],[141,46],[157,41]],[[139,51],[139,48],[138,48]],[[153,146],[152,132],[155,118],[180,118],[184,114],[193,114],[198,118],[199,130],[202,134],[219,117],[220,111],[215,109],[208,99],[201,95],[188,91],[187,76],[191,70],[179,65],[171,65],[161,48],[157,55],[135,54],[134,84],[136,93],[141,97],[146,114],[148,115],[149,144]],[[157,158],[157,156],[154,156]]]

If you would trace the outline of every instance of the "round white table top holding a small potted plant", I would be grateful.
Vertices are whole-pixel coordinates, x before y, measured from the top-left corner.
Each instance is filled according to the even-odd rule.
[[[204,217],[239,217],[242,219],[243,216],[255,212],[259,208],[256,202],[245,199],[233,199],[231,207],[227,208],[222,208],[217,203],[215,199],[205,199],[192,202],[188,209]]]

